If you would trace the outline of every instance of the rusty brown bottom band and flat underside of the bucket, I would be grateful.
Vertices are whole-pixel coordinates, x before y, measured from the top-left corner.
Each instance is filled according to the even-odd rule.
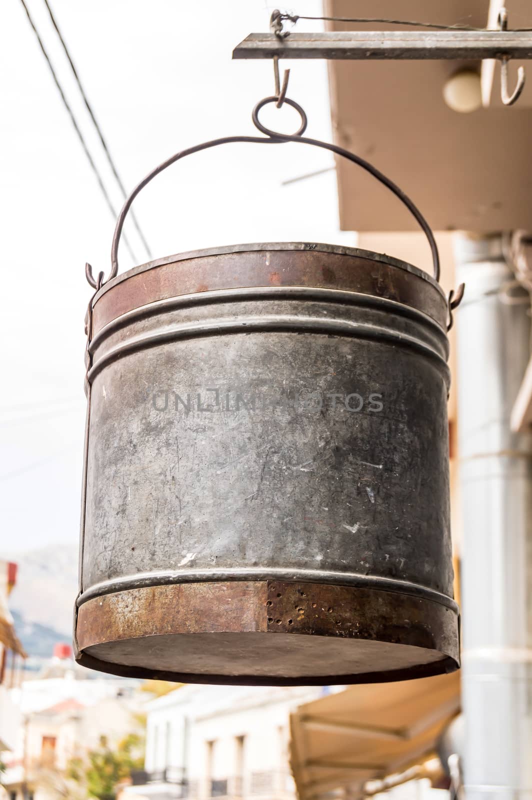
[[[87,666],[107,662],[113,670],[118,662],[125,674],[145,677],[370,682],[454,670],[455,625],[454,611],[438,602],[386,591],[282,581],[190,583],[88,600],[79,609],[78,647],[93,659]]]

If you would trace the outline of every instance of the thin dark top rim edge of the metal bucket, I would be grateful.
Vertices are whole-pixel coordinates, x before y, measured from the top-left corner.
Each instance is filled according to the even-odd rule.
[[[130,270],[122,272],[115,278],[111,278],[109,281],[107,281],[102,288],[94,294],[92,305],[94,306],[107,290],[117,286],[118,283],[121,283],[128,278],[133,278],[134,275],[146,272],[147,270],[153,270],[158,266],[171,264],[173,262],[188,261],[193,258],[203,258],[212,255],[226,255],[231,253],[249,253],[256,252],[257,250],[306,250],[318,253],[351,255],[355,258],[366,258],[368,261],[381,262],[387,266],[393,266],[399,270],[403,270],[404,272],[409,272],[410,274],[415,275],[416,278],[422,278],[422,280],[430,283],[431,286],[434,286],[434,289],[438,290],[439,294],[441,294],[442,298],[445,300],[445,302],[447,302],[446,294],[442,290],[442,286],[440,286],[438,281],[436,281],[430,274],[426,273],[424,270],[421,270],[418,266],[414,266],[406,261],[402,261],[401,258],[394,258],[394,256],[390,256],[385,253],[375,253],[374,250],[362,250],[359,247],[330,245],[322,242],[251,242],[249,244],[206,247],[202,250],[187,250],[184,253],[177,253],[174,255],[164,256],[162,258],[155,258],[153,261],[139,264],[138,266],[134,266]]]

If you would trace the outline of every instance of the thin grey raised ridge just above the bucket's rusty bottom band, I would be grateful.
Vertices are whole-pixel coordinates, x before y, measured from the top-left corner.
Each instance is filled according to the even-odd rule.
[[[165,572],[146,572],[113,578],[95,583],[78,597],[78,606],[102,594],[113,594],[124,590],[139,589],[146,586],[167,586],[178,583],[230,582],[230,581],[286,581],[330,584],[332,586],[351,586],[360,589],[373,589],[409,597],[437,602],[454,614],[459,614],[458,603],[446,594],[422,586],[419,583],[382,578],[378,575],[364,575],[354,572],[333,572],[326,570],[287,570],[278,567],[230,567],[225,570],[169,570]]]

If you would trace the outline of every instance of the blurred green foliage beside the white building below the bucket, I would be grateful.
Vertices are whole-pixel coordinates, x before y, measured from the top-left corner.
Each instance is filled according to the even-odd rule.
[[[115,800],[117,784],[129,778],[132,770],[142,770],[142,744],[141,736],[128,734],[118,742],[116,750],[111,750],[106,736],[102,736],[98,750],[90,750],[87,761],[72,759],[68,777],[85,783],[91,798]]]

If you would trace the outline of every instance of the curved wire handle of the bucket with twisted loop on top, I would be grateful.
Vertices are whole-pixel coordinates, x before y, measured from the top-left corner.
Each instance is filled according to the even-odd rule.
[[[258,137],[258,136],[225,136],[219,139],[213,139],[210,142],[202,142],[202,144],[194,145],[194,147],[188,147],[186,150],[181,150],[179,153],[170,156],[167,158],[166,161],[162,162],[155,167],[154,170],[151,170],[149,174],[146,175],[146,178],[143,178],[142,181],[135,186],[134,190],[131,192],[130,196],[126,199],[126,202],[122,206],[122,210],[118,215],[118,220],[116,223],[116,227],[114,229],[114,236],[113,236],[113,243],[111,246],[111,271],[109,278],[106,279],[103,283],[110,281],[111,278],[114,278],[118,274],[118,243],[120,242],[120,236],[122,234],[122,228],[124,226],[124,222],[126,220],[126,216],[128,211],[130,210],[130,206],[134,201],[134,198],[137,197],[139,192],[147,186],[150,181],[152,181],[159,173],[163,170],[166,170],[166,167],[171,166],[176,161],[179,161],[180,158],[185,158],[187,155],[191,155],[193,153],[199,153],[201,150],[208,150],[210,147],[217,147],[218,145],[226,145],[232,144],[233,142],[256,142],[257,144],[282,144],[282,142],[302,142],[302,144],[306,145],[313,145],[315,147],[322,147],[323,150],[330,150],[331,153],[336,155],[342,156],[342,158],[346,158],[348,161],[354,162],[354,164],[358,164],[361,166],[363,170],[369,172],[371,175],[374,176],[378,180],[378,182],[382,183],[386,186],[401,202],[404,206],[410,211],[410,214],[415,218],[418,222],[418,225],[421,227],[423,233],[426,235],[426,238],[430,245],[430,251],[432,253],[432,261],[434,267],[434,278],[438,281],[440,277],[440,260],[438,254],[438,245],[436,244],[436,240],[434,238],[434,234],[430,229],[430,225],[426,222],[426,219],[423,217],[421,211],[418,209],[417,206],[414,205],[414,202],[410,200],[410,198],[400,189],[397,184],[387,178],[386,175],[382,174],[380,170],[377,169],[376,166],[367,162],[365,158],[361,158],[359,155],[351,153],[349,150],[344,150],[343,147],[339,147],[338,145],[330,144],[330,142],[321,142],[318,139],[311,139],[308,137],[303,136],[306,130],[306,114],[305,111],[302,109],[301,106],[294,100],[290,100],[290,98],[284,98],[283,102],[288,105],[292,106],[295,110],[298,111],[298,114],[301,116],[301,125],[299,129],[296,131],[295,134],[279,134],[275,130],[270,130],[270,128],[266,128],[266,126],[262,125],[262,122],[258,119],[258,112],[262,109],[263,106],[268,105],[269,103],[278,103],[278,96],[275,95],[274,97],[264,98],[257,105],[254,107],[253,110],[253,122],[254,125],[258,128],[258,130],[262,131],[263,134],[266,134],[266,138]],[[90,283],[90,286],[93,286],[95,289],[97,286],[96,281],[94,280],[92,269],[90,264],[86,265],[86,278],[87,281]]]

